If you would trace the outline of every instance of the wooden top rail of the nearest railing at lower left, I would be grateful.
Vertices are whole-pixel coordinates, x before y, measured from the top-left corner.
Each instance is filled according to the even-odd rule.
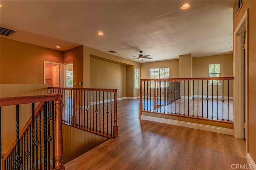
[[[11,106],[11,105],[29,104],[29,103],[36,103],[36,102],[48,102],[53,100],[62,100],[62,94],[46,94],[46,95],[39,95],[39,96],[1,98],[0,106]]]

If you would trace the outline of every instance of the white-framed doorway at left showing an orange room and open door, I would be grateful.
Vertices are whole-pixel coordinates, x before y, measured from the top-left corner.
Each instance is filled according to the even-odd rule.
[[[63,87],[63,64],[44,61],[44,84],[51,87]]]

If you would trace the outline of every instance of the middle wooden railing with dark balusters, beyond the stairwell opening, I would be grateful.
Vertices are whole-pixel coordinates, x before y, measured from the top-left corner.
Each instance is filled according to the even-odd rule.
[[[118,137],[116,89],[49,89],[63,95],[63,123],[104,137]]]

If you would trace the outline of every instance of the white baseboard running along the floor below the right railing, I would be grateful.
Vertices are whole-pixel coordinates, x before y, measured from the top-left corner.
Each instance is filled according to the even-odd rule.
[[[223,133],[226,135],[233,135],[233,129],[228,129],[228,128],[224,128],[224,127],[202,125],[202,124],[198,124],[198,123],[191,123],[191,122],[178,121],[178,120],[172,120],[172,119],[164,119],[164,118],[160,118],[160,117],[152,117],[152,116],[146,116],[146,115],[141,115],[141,119],[148,120],[148,121],[155,121],[155,122],[159,122],[159,123],[166,123],[166,124],[170,124],[170,125],[190,127],[190,128],[200,129],[200,130],[204,130],[204,131]]]

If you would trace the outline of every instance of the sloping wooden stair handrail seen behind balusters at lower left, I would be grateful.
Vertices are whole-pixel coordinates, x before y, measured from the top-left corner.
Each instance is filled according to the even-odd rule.
[[[35,117],[39,115],[39,111],[43,110],[43,106],[44,106],[44,102],[40,102],[40,104],[36,107],[35,109]],[[25,124],[25,126],[23,127],[22,131],[20,132],[20,139],[21,137],[24,135],[24,133],[26,132],[26,130],[29,129],[29,126],[32,125],[32,116],[28,119],[27,123]],[[8,152],[6,152],[6,154],[4,154],[2,156],[2,160],[6,160],[6,158],[9,156],[9,154],[12,152],[12,150],[14,149],[14,147],[16,146],[16,139],[15,141],[12,143],[12,146],[10,147],[10,149],[8,150]]]

